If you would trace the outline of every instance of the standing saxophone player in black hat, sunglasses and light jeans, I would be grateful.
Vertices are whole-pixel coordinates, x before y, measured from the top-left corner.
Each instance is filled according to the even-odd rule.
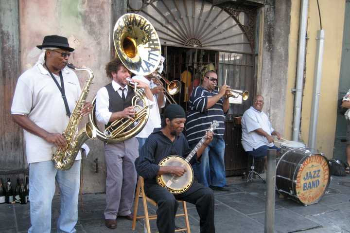
[[[26,154],[29,163],[30,218],[29,233],[51,232],[51,206],[55,181],[60,187],[61,210],[57,230],[74,232],[78,220],[78,193],[80,186],[80,160],[78,154],[67,171],[57,170],[51,161],[53,147],[65,147],[62,136],[70,113],[80,96],[76,74],[66,67],[70,52],[74,51],[63,36],[45,36],[43,52],[35,66],[18,78],[11,114],[24,129]],[[88,115],[92,105],[81,109]]]

